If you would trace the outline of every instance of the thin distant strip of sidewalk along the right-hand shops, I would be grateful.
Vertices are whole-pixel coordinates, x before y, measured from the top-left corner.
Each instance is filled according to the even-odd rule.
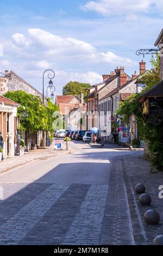
[[[101,144],[99,143],[89,143],[91,147],[96,147],[96,148],[105,148],[105,149],[114,149],[114,150],[130,150],[130,151],[143,151],[144,149],[142,148],[127,148],[127,147],[122,147],[120,145],[117,145],[115,143],[104,143],[104,146],[102,147]]]

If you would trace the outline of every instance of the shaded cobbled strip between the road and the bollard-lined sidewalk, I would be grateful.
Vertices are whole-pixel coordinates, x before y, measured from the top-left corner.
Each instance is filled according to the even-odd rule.
[[[106,214],[103,220],[102,234],[105,235],[101,236],[101,244],[135,245],[121,157],[113,157],[111,164]]]

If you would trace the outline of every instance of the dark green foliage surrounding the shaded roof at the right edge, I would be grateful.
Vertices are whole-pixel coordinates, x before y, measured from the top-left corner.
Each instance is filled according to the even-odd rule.
[[[135,115],[137,128],[139,130],[140,139],[144,139],[148,143],[148,149],[152,155],[152,163],[156,168],[163,169],[163,124],[152,125],[149,117],[145,117],[142,113],[142,105],[138,99],[147,90],[160,82],[160,60],[159,54],[151,59],[151,70],[148,70],[139,82],[146,84],[146,88],[141,93],[133,94],[126,100],[120,102],[117,110],[117,117],[123,116],[125,121],[129,121],[131,115]]]

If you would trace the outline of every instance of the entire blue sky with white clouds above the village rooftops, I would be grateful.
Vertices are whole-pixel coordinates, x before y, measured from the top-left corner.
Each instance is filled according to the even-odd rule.
[[[0,70],[14,70],[42,90],[42,73],[55,71],[57,94],[68,81],[102,81],[116,66],[139,72],[135,51],[154,47],[162,29],[162,0],[0,2],[4,54]],[[147,68],[149,56],[145,56]]]

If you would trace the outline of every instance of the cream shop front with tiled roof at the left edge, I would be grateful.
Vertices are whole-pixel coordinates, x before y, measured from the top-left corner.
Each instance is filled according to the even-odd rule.
[[[0,95],[0,131],[3,137],[3,157],[15,155],[17,145],[18,103]]]

